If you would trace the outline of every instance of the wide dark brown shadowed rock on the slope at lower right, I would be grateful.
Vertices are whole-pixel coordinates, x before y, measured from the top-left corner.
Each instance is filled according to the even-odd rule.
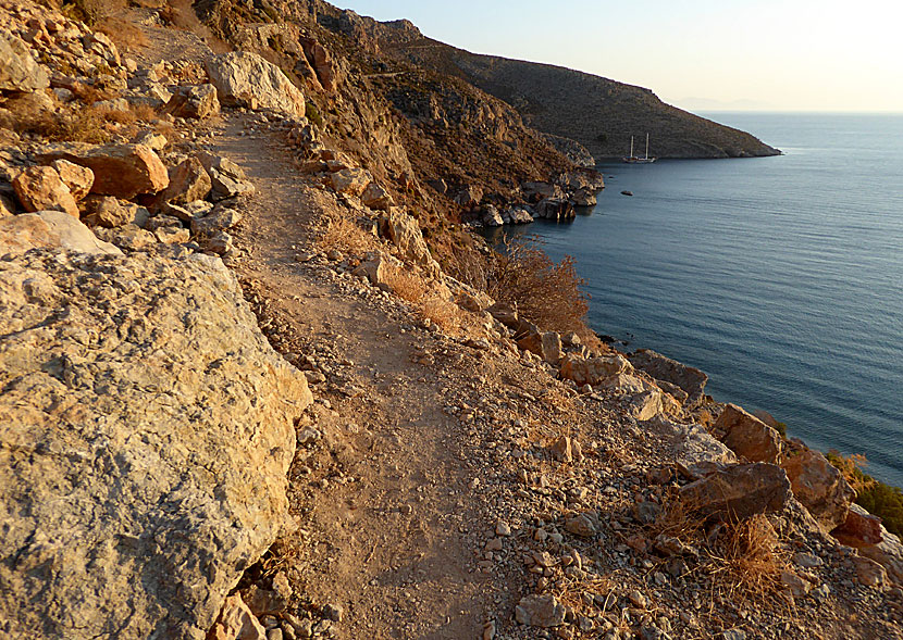
[[[790,480],[774,464],[738,464],[684,486],[680,499],[691,511],[735,520],[779,512],[790,500]]]

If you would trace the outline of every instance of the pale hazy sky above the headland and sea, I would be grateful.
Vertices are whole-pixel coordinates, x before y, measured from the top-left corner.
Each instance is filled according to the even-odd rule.
[[[647,87],[689,109],[903,112],[899,1],[335,3],[376,20],[407,17],[424,35],[469,51]]]

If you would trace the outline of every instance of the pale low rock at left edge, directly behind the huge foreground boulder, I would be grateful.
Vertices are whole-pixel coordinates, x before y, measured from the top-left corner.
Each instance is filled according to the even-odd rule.
[[[122,254],[109,242],[99,240],[77,218],[61,211],[23,213],[0,219],[0,255],[24,253],[34,248]]]

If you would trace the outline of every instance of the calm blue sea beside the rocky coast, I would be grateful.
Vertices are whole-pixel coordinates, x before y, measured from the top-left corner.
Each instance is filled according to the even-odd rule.
[[[620,349],[903,487],[903,114],[702,115],[783,155],[604,163],[597,206],[500,233],[574,256]]]

